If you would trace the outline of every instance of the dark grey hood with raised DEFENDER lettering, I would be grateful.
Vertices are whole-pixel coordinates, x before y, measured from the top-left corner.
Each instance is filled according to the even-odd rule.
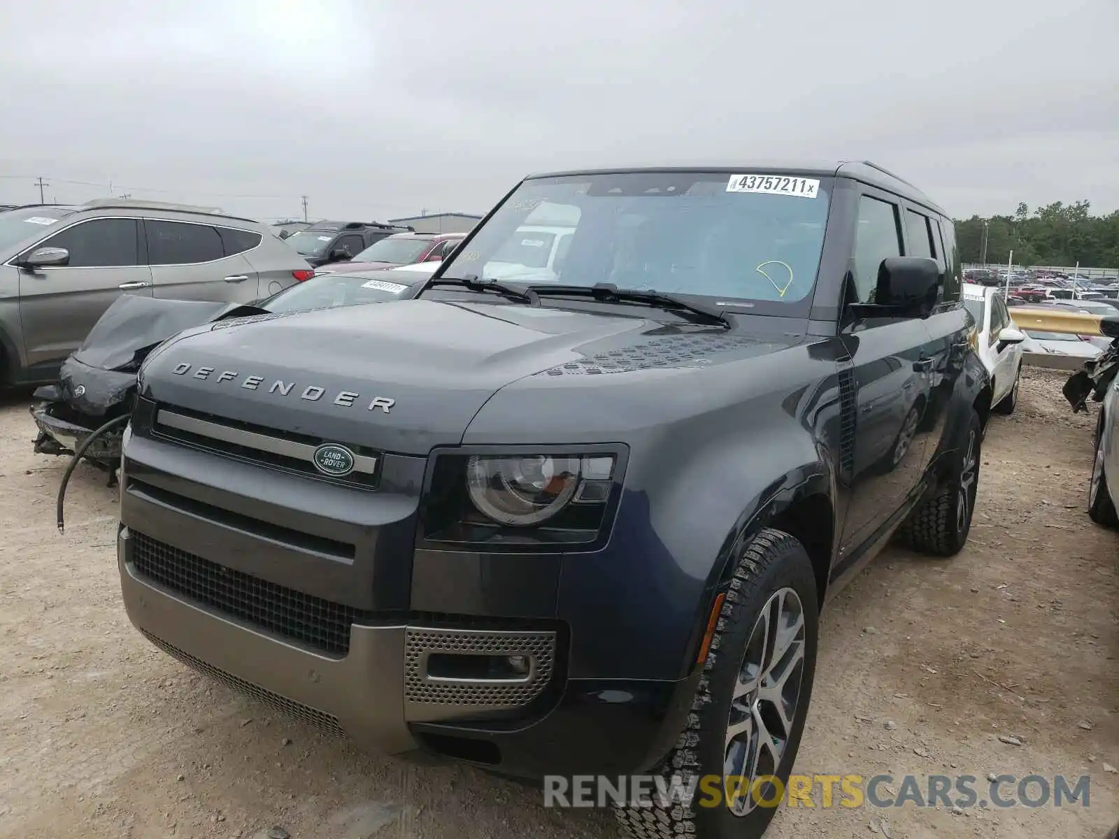
[[[692,360],[712,366],[798,340],[546,307],[404,300],[184,333],[149,357],[140,388],[166,406],[425,455],[459,443],[495,393],[533,374],[655,376],[689,366],[697,347],[704,358]],[[587,409],[609,411],[604,403],[595,388]]]

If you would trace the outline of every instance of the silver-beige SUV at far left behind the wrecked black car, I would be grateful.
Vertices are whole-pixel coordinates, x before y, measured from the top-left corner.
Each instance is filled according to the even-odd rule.
[[[0,386],[53,381],[121,294],[247,303],[311,276],[265,225],[98,199],[0,213]]]

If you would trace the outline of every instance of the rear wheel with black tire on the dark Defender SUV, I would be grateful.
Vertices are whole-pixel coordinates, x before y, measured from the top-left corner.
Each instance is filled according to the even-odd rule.
[[[971,531],[979,489],[982,424],[974,409],[969,414],[960,447],[952,455],[948,486],[913,510],[899,528],[902,544],[920,554],[956,556]]]

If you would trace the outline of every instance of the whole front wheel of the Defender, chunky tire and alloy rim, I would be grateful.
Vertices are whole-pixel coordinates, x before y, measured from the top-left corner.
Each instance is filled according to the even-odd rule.
[[[653,798],[646,807],[619,807],[618,820],[629,836],[756,839],[765,832],[803,734],[816,671],[818,603],[812,564],[800,541],[781,530],[759,532],[735,566],[687,727],[659,770],[677,773],[685,783],[712,775],[721,780],[697,785],[690,803]],[[750,781],[728,786],[728,776]],[[765,802],[759,804],[751,789],[765,776],[777,777],[780,786],[759,782]],[[740,790],[733,802],[728,789]]]

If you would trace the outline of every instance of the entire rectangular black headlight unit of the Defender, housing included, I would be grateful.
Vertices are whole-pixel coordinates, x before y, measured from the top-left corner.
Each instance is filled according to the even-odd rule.
[[[441,452],[421,541],[441,547],[595,549],[609,536],[624,451]]]

